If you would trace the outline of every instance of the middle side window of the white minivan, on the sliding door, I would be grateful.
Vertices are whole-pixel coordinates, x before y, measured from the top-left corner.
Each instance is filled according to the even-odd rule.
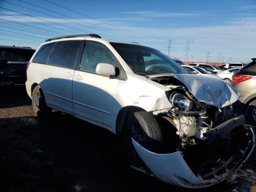
[[[50,65],[75,68],[76,57],[82,41],[57,42],[50,56]]]

